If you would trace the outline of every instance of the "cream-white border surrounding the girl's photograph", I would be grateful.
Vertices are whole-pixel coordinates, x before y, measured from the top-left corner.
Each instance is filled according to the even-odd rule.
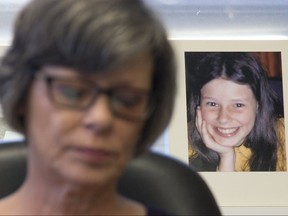
[[[185,52],[281,52],[284,113],[288,113],[288,40],[170,40],[178,63],[178,92],[169,131],[170,155],[188,164]],[[285,116],[285,125],[288,125]],[[287,127],[285,135],[287,136]],[[286,142],[286,155],[287,154]],[[199,172],[220,207],[288,209],[288,172]]]

